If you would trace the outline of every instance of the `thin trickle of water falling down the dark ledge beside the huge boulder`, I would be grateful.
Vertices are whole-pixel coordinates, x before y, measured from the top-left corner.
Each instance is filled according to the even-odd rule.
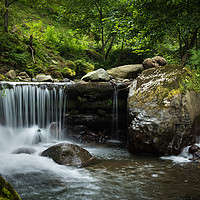
[[[113,110],[112,110],[112,133],[117,137],[117,132],[119,128],[119,112],[118,112],[118,89],[119,85],[114,85],[113,94]]]

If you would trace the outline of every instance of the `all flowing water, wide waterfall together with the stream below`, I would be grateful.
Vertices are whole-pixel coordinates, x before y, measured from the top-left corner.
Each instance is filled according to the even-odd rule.
[[[158,158],[132,155],[117,147],[117,141],[110,141],[111,146],[79,144],[101,160],[85,168],[58,165],[40,156],[65,140],[58,134],[66,96],[63,89],[18,87],[6,90],[6,97],[0,99],[0,174],[22,200],[200,199],[200,163],[188,159],[187,149],[180,156]],[[54,135],[49,128],[52,122],[59,127]],[[13,154],[19,148],[32,154]]]

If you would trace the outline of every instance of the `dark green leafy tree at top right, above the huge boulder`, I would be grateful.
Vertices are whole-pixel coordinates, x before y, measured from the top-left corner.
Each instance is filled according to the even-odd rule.
[[[140,34],[153,44],[166,35],[179,42],[182,65],[198,40],[200,2],[196,0],[135,0]]]

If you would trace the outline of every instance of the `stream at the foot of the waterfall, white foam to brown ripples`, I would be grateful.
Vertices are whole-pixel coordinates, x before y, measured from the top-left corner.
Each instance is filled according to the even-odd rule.
[[[32,145],[34,154],[11,154],[13,148],[0,153],[0,174],[22,200],[200,199],[200,163],[175,156],[132,155],[117,146],[79,144],[101,162],[85,168],[62,166],[40,156],[55,143]]]

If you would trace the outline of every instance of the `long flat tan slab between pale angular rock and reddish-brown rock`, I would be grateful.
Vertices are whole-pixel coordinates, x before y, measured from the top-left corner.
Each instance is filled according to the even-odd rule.
[[[135,79],[143,69],[141,64],[124,65],[111,68],[107,70],[107,73],[114,78]]]

